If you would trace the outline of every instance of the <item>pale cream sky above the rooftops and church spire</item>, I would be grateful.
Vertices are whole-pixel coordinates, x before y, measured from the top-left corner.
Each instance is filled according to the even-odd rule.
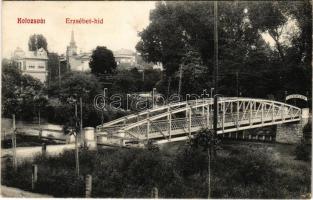
[[[91,51],[96,46],[111,50],[135,50],[138,32],[149,24],[149,13],[155,2],[2,2],[2,56],[11,57],[16,47],[28,49],[32,34],[43,34],[48,50],[65,53],[74,31],[78,50]],[[18,18],[43,18],[45,24],[18,24]],[[66,18],[100,18],[103,24],[66,24]]]

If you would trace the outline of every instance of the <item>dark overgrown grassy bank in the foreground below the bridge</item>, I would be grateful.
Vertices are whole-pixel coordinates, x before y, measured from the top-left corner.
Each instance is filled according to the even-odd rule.
[[[170,148],[169,148],[170,147]],[[211,163],[213,198],[301,198],[310,193],[310,162],[295,160],[293,145],[226,143]],[[92,197],[149,198],[157,187],[162,198],[207,198],[207,154],[176,144],[159,152],[143,149],[81,151],[81,177],[75,176],[74,152],[37,157],[35,192],[56,197],[84,195],[84,177],[93,178]],[[14,172],[2,169],[2,184],[31,189],[31,164]]]

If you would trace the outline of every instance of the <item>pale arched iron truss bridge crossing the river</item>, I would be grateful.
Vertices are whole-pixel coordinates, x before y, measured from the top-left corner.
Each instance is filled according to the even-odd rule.
[[[98,144],[168,143],[213,129],[212,98],[184,101],[128,115],[96,129]],[[218,134],[301,120],[301,109],[278,101],[223,97],[218,100]]]

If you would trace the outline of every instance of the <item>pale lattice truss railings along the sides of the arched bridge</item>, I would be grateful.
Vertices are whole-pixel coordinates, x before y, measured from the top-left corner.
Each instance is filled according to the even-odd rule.
[[[182,113],[180,116],[183,117],[175,117],[179,113]],[[270,125],[299,120],[300,116],[300,108],[281,102],[251,98],[221,98],[218,101],[218,128],[222,131],[229,127],[239,130],[249,126],[252,128],[257,124]],[[106,123],[105,126],[99,126],[98,130],[113,135],[124,132],[132,137],[144,139],[148,138],[149,134],[160,137],[171,137],[171,134],[175,133],[190,134],[191,131],[201,128],[212,128],[212,122],[213,100],[204,99],[164,106],[142,112],[140,115],[126,116],[114,120],[113,123]]]

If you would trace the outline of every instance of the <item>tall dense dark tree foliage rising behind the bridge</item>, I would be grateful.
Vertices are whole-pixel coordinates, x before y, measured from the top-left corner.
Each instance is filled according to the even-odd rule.
[[[214,87],[213,19],[213,2],[156,4],[136,48],[163,64],[163,93],[178,91],[180,65],[182,94]],[[311,92],[311,19],[308,0],[219,2],[219,93],[281,100],[285,91]]]

